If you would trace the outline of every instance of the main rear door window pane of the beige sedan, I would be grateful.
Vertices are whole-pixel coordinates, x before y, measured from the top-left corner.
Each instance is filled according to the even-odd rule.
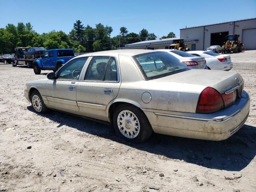
[[[85,74],[84,80],[103,81],[109,57],[93,57]]]

